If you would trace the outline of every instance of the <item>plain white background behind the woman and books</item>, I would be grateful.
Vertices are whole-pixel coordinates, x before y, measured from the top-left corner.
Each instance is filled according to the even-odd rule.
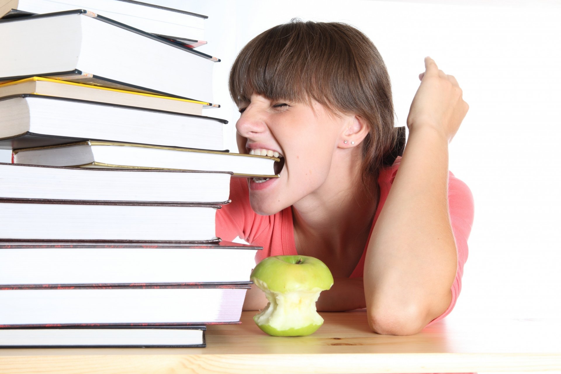
[[[462,293],[449,318],[559,317],[561,3],[150,2],[209,16],[209,44],[200,50],[222,59],[214,70],[214,102],[222,108],[205,114],[231,121],[225,146],[233,151],[237,110],[228,70],[238,50],[269,27],[300,17],[364,31],[388,67],[397,126],[406,124],[423,58],[434,58],[470,104],[450,145],[450,170],[471,188],[475,222]],[[8,162],[9,153],[0,160]]]

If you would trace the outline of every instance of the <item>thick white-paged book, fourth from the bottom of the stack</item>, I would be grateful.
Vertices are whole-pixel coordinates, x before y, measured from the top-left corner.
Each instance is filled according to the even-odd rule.
[[[214,241],[219,207],[0,198],[0,239]]]

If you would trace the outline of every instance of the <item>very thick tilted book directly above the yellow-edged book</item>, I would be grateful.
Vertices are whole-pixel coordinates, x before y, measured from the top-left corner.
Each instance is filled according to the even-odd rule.
[[[213,102],[217,58],[93,12],[2,19],[0,35],[10,35],[0,38],[0,81],[43,76]]]

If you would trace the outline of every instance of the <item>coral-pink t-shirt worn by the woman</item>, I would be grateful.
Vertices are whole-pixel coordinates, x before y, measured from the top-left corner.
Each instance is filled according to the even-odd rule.
[[[384,168],[380,172],[378,177],[380,201],[372,227],[370,228],[370,234],[388,197],[400,161],[401,157],[398,157],[391,167]],[[230,183],[230,199],[232,202],[224,205],[217,212],[216,227],[218,237],[231,241],[239,236],[248,243],[263,247],[263,251],[257,251],[256,263],[269,256],[298,254],[294,241],[291,207],[287,207],[279,211],[279,213],[269,216],[256,214],[250,206],[249,189],[245,178],[232,178]],[[470,236],[473,223],[473,197],[471,191],[465,183],[454,177],[452,172],[448,174],[448,206],[458,250],[458,270],[452,284],[452,302],[450,302],[450,306],[442,315],[431,321],[430,324],[442,320],[452,311],[456,304],[462,288],[463,265],[467,260],[467,238]],[[362,257],[352,272],[351,278],[362,276],[367,247],[368,242],[366,242]]]

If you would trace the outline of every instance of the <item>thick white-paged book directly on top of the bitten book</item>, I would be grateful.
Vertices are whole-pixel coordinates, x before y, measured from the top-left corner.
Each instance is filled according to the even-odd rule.
[[[219,118],[44,95],[0,98],[0,149],[81,140],[224,149]]]

